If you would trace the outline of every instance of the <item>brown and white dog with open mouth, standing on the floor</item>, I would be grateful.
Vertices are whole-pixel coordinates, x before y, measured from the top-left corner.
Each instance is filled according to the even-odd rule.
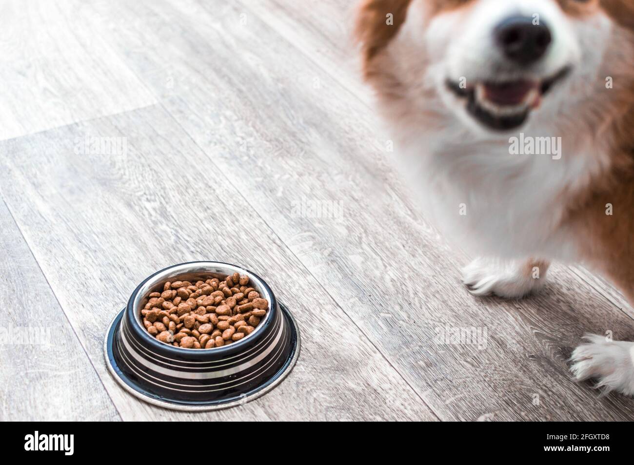
[[[634,303],[634,0],[365,0],[357,36],[410,185],[484,257],[472,293],[519,298],[564,260]],[[572,360],[634,395],[634,343]]]

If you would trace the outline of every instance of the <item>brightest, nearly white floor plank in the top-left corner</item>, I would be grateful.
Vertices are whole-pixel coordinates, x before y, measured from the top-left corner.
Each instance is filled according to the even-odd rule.
[[[0,4],[0,139],[156,103],[81,3]]]

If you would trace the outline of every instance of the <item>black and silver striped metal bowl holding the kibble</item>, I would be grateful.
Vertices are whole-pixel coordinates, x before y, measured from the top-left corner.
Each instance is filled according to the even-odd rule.
[[[224,279],[238,272],[269,302],[249,336],[233,344],[189,349],[160,342],[143,327],[141,309],[165,281]],[[273,389],[299,356],[299,331],[268,284],[249,270],[221,262],[190,262],[146,278],[110,323],[104,344],[108,370],[127,392],[168,409],[214,410],[243,404]]]

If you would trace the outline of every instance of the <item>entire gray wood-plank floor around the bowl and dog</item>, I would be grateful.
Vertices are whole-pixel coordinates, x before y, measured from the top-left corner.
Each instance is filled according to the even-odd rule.
[[[351,3],[2,3],[1,419],[634,419],[634,399],[567,370],[586,332],[634,338],[609,284],[555,265],[527,300],[462,288],[468,258],[392,170]],[[108,374],[105,330],[146,276],[207,259],[273,286],[297,366],[233,409],[140,402]],[[18,344],[23,327],[49,337]],[[486,339],[441,344],[439,328]]]

